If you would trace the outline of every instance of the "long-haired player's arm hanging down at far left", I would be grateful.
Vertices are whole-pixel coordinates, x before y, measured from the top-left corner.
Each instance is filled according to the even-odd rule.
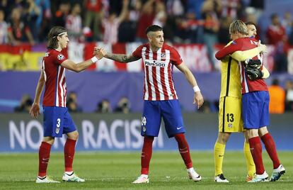
[[[45,75],[42,69],[40,74],[40,79],[38,81],[37,88],[35,89],[35,99],[33,101],[33,106],[30,108],[30,116],[37,118],[40,115],[40,96],[42,94],[42,89],[45,85]]]

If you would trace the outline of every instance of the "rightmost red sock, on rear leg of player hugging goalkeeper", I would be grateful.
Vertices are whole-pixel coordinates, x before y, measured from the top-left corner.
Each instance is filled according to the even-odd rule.
[[[265,150],[267,150],[270,159],[272,160],[272,164],[274,165],[274,169],[280,166],[280,160],[277,157],[277,150],[275,141],[272,139],[270,133],[266,133],[261,137],[263,140],[263,144],[265,144]]]

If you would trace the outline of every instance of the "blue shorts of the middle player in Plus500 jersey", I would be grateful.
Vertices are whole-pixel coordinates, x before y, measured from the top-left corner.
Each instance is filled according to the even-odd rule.
[[[185,133],[178,100],[144,101],[142,136],[157,137],[161,126],[161,118],[163,118],[165,130],[169,138],[178,133]]]

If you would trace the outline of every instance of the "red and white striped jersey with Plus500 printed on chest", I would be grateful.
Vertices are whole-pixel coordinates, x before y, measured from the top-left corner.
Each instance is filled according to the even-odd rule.
[[[174,47],[164,44],[153,52],[149,44],[144,44],[137,47],[132,55],[142,58],[144,63],[144,100],[178,99],[172,73],[173,65],[180,65],[182,59]]]

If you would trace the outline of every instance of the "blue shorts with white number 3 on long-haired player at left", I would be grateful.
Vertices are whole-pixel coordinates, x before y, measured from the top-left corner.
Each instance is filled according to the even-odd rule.
[[[44,106],[44,137],[62,138],[62,134],[76,130],[68,109],[57,106]]]

